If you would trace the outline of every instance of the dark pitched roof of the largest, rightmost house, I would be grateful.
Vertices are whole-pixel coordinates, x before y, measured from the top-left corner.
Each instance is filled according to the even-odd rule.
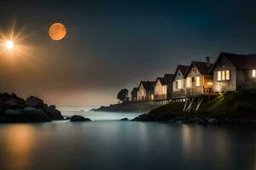
[[[220,53],[218,59],[212,66],[212,70],[217,65],[219,59],[225,57],[230,60],[232,65],[234,65],[238,69],[250,69],[256,68],[256,54],[229,54],[229,53]]]

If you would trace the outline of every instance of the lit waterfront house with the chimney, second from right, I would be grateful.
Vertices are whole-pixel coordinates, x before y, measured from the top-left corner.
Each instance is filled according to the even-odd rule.
[[[213,75],[210,57],[207,62],[192,61],[185,73],[185,94],[212,94]]]

